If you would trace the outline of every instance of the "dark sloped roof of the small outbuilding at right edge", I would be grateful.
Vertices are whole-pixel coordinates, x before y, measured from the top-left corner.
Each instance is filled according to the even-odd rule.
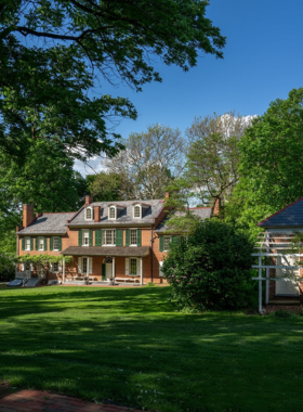
[[[258,223],[260,228],[303,227],[303,197]]]

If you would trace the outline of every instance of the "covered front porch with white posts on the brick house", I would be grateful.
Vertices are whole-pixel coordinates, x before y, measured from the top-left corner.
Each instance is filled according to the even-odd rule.
[[[148,246],[69,246],[63,255],[64,284],[143,285]],[[73,263],[65,265],[65,256]]]

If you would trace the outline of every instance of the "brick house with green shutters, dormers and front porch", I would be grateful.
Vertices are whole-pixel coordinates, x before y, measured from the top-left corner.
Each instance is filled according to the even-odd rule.
[[[210,217],[211,208],[193,211]],[[48,281],[163,283],[161,265],[174,239],[166,234],[167,216],[164,199],[110,203],[85,196],[77,213],[36,215],[32,205],[24,205],[17,255],[71,256],[68,265],[50,265]],[[37,275],[37,268],[18,270]]]

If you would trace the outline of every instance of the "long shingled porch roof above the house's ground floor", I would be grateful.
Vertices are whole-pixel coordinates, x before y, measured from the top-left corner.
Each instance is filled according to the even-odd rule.
[[[145,257],[149,255],[149,246],[69,246],[61,254],[65,256]]]

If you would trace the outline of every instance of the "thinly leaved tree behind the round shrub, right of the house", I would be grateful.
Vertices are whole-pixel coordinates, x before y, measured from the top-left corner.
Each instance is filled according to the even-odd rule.
[[[250,118],[234,112],[223,116],[195,118],[187,137],[190,141],[185,177],[202,203],[230,196],[238,182],[238,143]]]

